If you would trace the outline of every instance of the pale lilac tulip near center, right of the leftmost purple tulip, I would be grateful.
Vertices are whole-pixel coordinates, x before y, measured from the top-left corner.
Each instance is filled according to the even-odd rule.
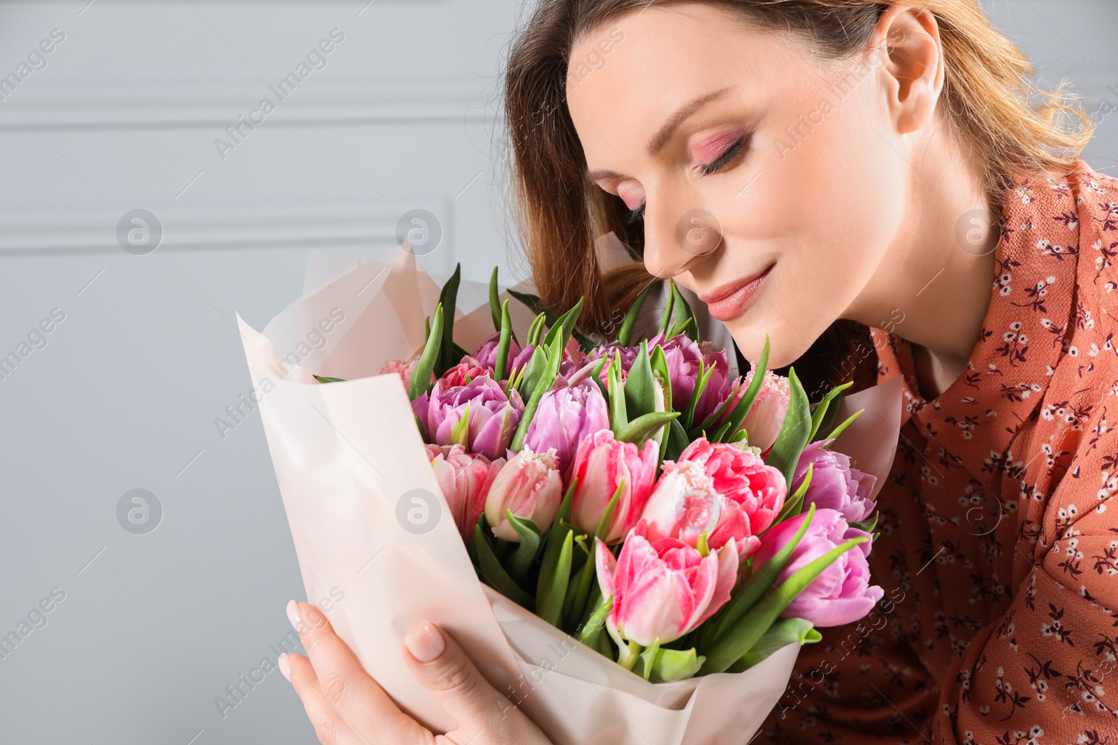
[[[524,446],[537,452],[555,448],[559,472],[566,475],[578,443],[604,429],[609,429],[609,410],[597,384],[586,378],[575,385],[560,380],[540,399]]]

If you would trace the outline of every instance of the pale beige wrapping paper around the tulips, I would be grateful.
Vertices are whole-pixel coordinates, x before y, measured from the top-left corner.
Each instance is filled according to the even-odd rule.
[[[420,619],[453,634],[557,745],[747,743],[784,693],[798,647],[742,674],[653,685],[477,581],[404,386],[377,374],[419,348],[437,297],[405,249],[390,264],[316,254],[304,295],[263,333],[238,318],[307,599],[344,593],[326,613],[334,629],[400,707],[436,732],[454,722],[400,653],[405,630]],[[492,333],[487,288],[464,280],[458,297],[479,304],[456,314],[455,341],[472,350]],[[519,303],[510,309],[523,340],[531,314]],[[320,385],[312,372],[347,382]],[[847,405],[864,405],[856,398]],[[899,420],[899,392],[874,405],[896,409]],[[884,462],[862,429],[843,437]],[[416,495],[427,509],[418,525],[405,516]]]

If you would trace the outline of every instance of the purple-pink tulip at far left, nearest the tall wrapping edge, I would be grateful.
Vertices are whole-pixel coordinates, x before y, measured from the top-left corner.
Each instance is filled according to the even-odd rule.
[[[445,390],[444,384],[445,381],[435,381],[430,395],[420,395],[411,402],[427,439],[434,445],[457,442],[466,451],[490,460],[504,457],[524,411],[520,393],[513,390],[506,397],[489,375]],[[468,421],[462,424],[467,411]]]

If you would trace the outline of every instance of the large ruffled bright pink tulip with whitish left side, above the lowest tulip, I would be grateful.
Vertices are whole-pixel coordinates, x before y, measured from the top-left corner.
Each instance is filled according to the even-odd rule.
[[[736,541],[742,561],[760,547],[757,537],[779,514],[787,486],[784,475],[739,445],[699,438],[665,460],[642,517],[653,538],[673,537],[720,548]]]

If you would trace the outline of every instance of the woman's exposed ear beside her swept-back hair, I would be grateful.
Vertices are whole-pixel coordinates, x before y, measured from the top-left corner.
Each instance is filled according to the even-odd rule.
[[[944,48],[936,17],[890,6],[878,21],[872,45],[885,60],[887,104],[897,134],[929,124],[944,88]]]

